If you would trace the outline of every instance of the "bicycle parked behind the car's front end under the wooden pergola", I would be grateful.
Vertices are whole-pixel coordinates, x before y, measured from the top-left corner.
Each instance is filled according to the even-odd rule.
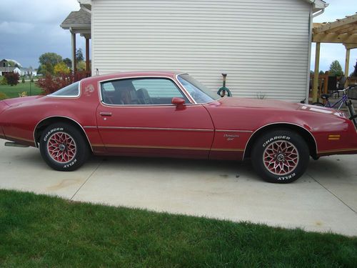
[[[350,89],[354,89],[356,85],[348,86],[346,89],[341,89],[337,91],[333,91],[331,94],[321,94],[321,99],[326,101],[326,104],[322,104],[321,102],[313,102],[313,105],[318,105],[318,106],[324,106],[327,108],[333,108],[333,109],[341,109],[342,105],[345,104],[345,106],[348,109],[348,113],[350,115],[349,119],[353,121],[353,124],[357,128],[357,114],[356,111],[353,107],[351,99],[348,99],[348,94],[347,91]],[[335,103],[331,103],[328,99],[333,96],[333,94],[340,94],[342,93],[342,97],[338,99]],[[337,107],[337,108],[336,108]]]

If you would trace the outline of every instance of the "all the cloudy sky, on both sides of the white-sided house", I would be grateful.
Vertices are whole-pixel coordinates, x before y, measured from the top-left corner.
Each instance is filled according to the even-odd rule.
[[[291,0],[287,0],[291,1]],[[335,21],[357,12],[357,0],[326,0],[330,6],[314,22]],[[55,52],[71,59],[71,34],[61,24],[71,11],[79,10],[76,0],[0,0],[0,60],[15,59],[24,67],[39,66],[39,56]],[[77,34],[77,48],[85,51],[85,39]],[[338,60],[344,70],[346,49],[342,44],[321,44],[320,69],[327,71]],[[311,50],[314,69],[315,45]],[[357,60],[351,50],[350,73]]]

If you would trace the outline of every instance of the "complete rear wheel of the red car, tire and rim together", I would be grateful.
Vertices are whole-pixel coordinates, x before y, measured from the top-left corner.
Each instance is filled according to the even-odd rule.
[[[81,132],[69,124],[51,124],[41,134],[41,156],[52,169],[71,172],[89,157],[89,147]]]

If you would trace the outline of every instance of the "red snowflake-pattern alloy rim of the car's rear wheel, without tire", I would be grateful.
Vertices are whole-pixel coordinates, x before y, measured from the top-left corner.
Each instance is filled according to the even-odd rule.
[[[76,156],[76,142],[69,134],[56,132],[49,137],[47,151],[55,162],[71,162]]]

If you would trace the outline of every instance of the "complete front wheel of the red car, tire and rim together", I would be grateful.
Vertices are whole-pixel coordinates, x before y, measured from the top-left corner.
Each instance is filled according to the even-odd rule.
[[[288,129],[268,131],[258,137],[251,152],[256,173],[266,182],[279,184],[294,182],[301,177],[309,158],[305,140]]]

